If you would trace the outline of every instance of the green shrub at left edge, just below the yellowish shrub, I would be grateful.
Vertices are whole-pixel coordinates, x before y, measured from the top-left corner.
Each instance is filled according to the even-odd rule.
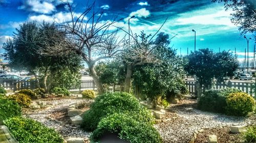
[[[0,99],[0,118],[3,120],[22,115],[22,108],[17,102],[8,99]]]

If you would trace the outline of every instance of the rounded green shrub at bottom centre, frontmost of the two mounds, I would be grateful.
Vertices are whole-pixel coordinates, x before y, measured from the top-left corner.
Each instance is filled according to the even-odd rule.
[[[104,133],[109,132],[115,133],[119,138],[133,143],[162,142],[159,132],[152,124],[138,122],[130,113],[114,113],[103,118],[91,135],[91,141],[99,141]]]

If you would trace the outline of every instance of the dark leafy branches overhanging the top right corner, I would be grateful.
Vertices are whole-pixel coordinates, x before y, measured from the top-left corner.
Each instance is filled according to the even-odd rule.
[[[256,1],[255,0],[212,0],[224,3],[224,7],[232,9],[231,22],[239,26],[241,34],[256,31]]]

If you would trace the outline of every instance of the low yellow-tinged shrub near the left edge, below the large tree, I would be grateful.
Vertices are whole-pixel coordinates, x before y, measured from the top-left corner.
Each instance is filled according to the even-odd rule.
[[[16,101],[20,106],[28,107],[31,103],[31,98],[22,93],[8,96],[9,99]]]

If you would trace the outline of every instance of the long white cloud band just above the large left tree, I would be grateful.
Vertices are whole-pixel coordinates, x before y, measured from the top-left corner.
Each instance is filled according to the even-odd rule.
[[[81,13],[74,13],[75,17],[80,16]],[[87,18],[85,17],[84,20],[86,20]],[[71,14],[69,12],[63,13],[63,12],[58,12],[52,16],[49,15],[32,15],[29,16],[28,18],[29,21],[37,21],[37,22],[42,22],[42,21],[46,21],[46,22],[57,22],[57,23],[62,23],[62,22],[66,22],[66,21],[71,21],[72,17]]]

